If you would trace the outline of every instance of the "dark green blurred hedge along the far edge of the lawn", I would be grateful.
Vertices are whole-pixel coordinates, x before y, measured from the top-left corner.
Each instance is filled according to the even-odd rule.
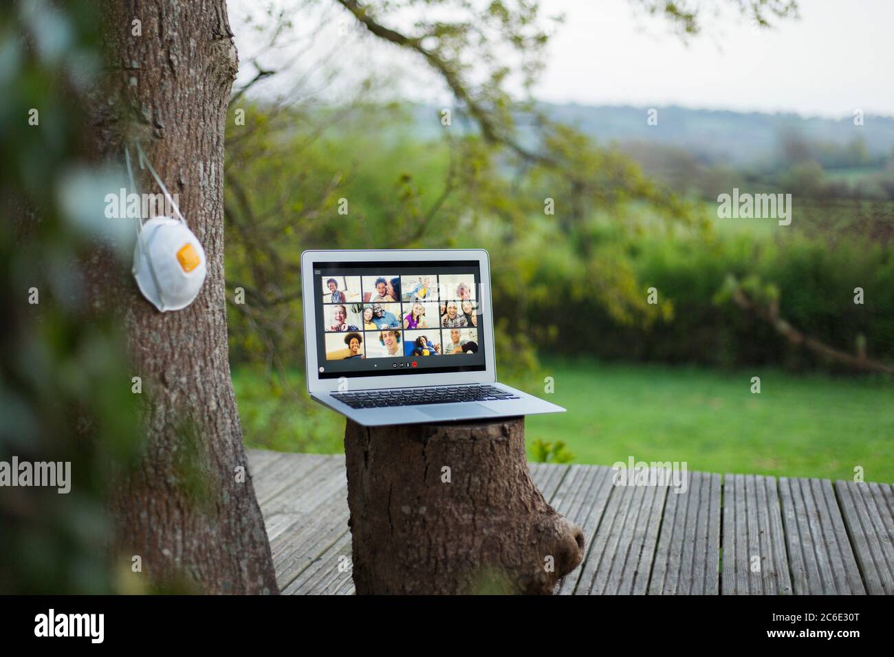
[[[760,318],[715,301],[727,274],[757,274],[780,292],[780,316],[799,331],[840,350],[856,352],[863,335],[870,358],[894,363],[894,257],[869,240],[793,236],[781,240],[738,235],[696,239],[640,238],[628,245],[632,274],[643,299],[658,291],[667,311],[654,321],[619,320],[606,310],[592,268],[575,265],[561,242],[525,266],[497,266],[497,316],[517,316],[539,350],[596,358],[699,363],[709,366],[780,365],[789,369],[843,368],[792,345]],[[521,257],[524,262],[525,257]],[[519,285],[519,281],[523,284]],[[854,303],[854,289],[864,304]],[[557,291],[559,291],[557,293]]]

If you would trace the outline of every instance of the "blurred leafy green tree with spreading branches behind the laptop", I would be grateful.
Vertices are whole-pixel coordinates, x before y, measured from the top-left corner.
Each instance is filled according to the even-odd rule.
[[[319,3],[249,14],[269,40],[243,59],[257,74],[234,91],[228,122],[228,278],[247,300],[232,305],[236,362],[260,360],[282,372],[303,361],[299,255],[307,248],[499,249],[495,316],[520,329],[499,349],[515,356],[502,362],[519,368],[533,363],[528,336],[555,337],[557,324],[531,321],[545,297],[603,308],[621,324],[672,316],[670,303],[646,303],[624,238],[675,226],[701,233],[706,225],[628,156],[550,121],[533,97],[510,96],[511,76],[529,90],[543,68],[549,37],[538,4],[334,1],[367,39],[436,72],[455,102],[429,116],[443,134],[432,142],[407,129],[412,105],[376,102],[388,80],[361,80],[355,97],[335,106],[321,104],[306,77],[275,99],[250,100],[256,85],[287,72],[265,62],[288,42],[293,17]],[[698,3],[633,4],[662,14],[681,34],[699,29]],[[794,7],[733,5],[762,24]],[[408,12],[415,18],[409,25]],[[300,55],[313,57],[309,51]],[[324,82],[342,73],[335,68]],[[520,139],[519,122],[535,126],[533,141]],[[338,212],[342,198],[345,215]]]

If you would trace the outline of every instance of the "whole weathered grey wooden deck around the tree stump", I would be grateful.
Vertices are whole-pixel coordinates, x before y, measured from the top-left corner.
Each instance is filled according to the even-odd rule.
[[[249,467],[283,594],[352,594],[344,457],[249,450]],[[586,536],[560,594],[894,593],[890,484],[690,472],[676,493],[530,468]]]

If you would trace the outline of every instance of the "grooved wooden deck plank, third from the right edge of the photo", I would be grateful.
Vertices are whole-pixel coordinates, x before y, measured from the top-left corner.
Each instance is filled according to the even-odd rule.
[[[723,479],[721,593],[791,594],[789,562],[776,479]]]

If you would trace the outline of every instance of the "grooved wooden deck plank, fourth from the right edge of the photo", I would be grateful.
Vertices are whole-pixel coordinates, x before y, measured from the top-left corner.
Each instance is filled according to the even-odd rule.
[[[687,473],[685,493],[671,489],[664,508],[649,594],[720,592],[720,475]]]

